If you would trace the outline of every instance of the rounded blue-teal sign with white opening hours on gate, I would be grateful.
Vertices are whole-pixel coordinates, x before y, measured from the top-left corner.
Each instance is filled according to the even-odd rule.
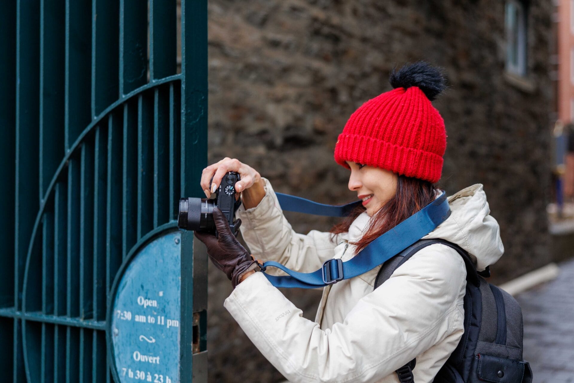
[[[111,320],[122,383],[179,383],[181,235],[154,239],[133,257],[115,293]]]

